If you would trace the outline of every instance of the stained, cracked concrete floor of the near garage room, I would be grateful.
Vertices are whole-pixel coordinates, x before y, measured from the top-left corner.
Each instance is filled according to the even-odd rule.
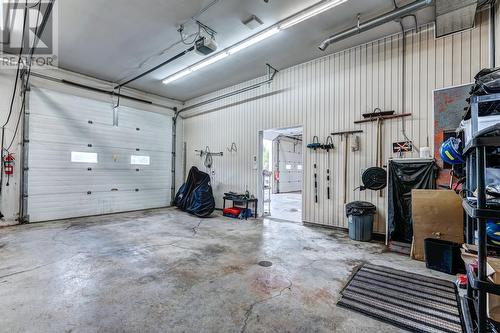
[[[363,262],[442,277],[381,244],[297,223],[162,209],[9,227],[0,331],[399,332],[336,307]]]

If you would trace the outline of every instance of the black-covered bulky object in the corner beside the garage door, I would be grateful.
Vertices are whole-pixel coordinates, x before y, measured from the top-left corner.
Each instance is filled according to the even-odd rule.
[[[175,196],[175,206],[198,217],[210,216],[215,210],[210,176],[192,167],[186,182]]]

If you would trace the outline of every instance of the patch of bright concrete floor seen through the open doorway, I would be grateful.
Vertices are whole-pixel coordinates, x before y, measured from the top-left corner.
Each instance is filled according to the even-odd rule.
[[[271,197],[271,217],[302,222],[302,193],[279,193]]]

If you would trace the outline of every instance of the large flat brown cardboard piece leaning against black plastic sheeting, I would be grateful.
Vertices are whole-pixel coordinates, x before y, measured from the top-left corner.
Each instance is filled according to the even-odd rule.
[[[413,245],[412,258],[425,260],[424,240],[464,242],[462,200],[450,190],[411,191]]]

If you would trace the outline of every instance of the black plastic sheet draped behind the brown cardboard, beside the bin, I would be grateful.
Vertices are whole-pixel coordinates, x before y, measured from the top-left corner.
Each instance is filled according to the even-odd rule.
[[[390,240],[411,243],[411,190],[435,189],[438,168],[434,161],[390,161],[388,223]]]

